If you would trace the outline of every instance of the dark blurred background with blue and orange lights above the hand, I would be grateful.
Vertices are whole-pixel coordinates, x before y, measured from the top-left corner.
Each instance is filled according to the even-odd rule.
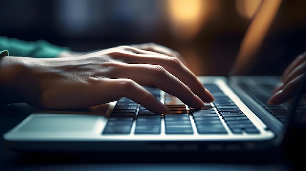
[[[305,0],[1,0],[0,35],[79,52],[155,42],[181,53],[197,76],[275,75],[306,51],[305,7]]]

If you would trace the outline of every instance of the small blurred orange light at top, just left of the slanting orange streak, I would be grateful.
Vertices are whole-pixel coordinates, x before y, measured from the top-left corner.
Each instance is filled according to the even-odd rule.
[[[248,19],[252,18],[259,8],[262,0],[236,0],[238,13]]]

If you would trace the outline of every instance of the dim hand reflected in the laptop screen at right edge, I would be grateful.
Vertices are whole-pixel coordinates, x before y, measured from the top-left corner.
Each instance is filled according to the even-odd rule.
[[[306,52],[296,57],[296,59],[284,71],[281,82],[273,91],[273,95],[268,100],[269,104],[284,103],[293,97],[294,91],[302,81],[306,71]],[[306,88],[304,88],[306,92]]]

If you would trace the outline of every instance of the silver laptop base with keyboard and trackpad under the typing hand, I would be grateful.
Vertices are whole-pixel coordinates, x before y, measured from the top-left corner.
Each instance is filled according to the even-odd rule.
[[[37,109],[3,139],[9,149],[22,152],[245,152],[274,148],[280,142],[290,119],[283,121],[265,110],[243,88],[246,79],[198,78],[215,97],[203,109],[145,87],[169,113],[152,113],[127,98],[84,110]],[[276,80],[267,79],[271,85]]]

